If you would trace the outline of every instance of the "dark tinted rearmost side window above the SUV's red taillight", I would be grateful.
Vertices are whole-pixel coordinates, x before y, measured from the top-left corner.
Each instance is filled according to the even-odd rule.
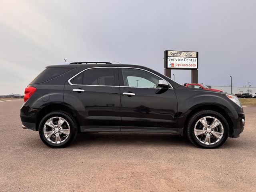
[[[65,72],[68,72],[72,68],[46,68],[41,72],[30,84],[43,83],[48,80],[51,80]]]

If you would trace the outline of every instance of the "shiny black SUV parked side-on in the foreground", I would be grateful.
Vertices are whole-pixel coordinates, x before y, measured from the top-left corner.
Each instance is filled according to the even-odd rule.
[[[182,134],[217,148],[244,130],[236,96],[180,86],[144,66],[74,62],[48,66],[25,89],[22,127],[53,148],[77,132]]]

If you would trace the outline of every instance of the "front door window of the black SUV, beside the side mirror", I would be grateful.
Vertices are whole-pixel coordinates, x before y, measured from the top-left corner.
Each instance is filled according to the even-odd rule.
[[[158,76],[139,69],[122,68],[124,86],[128,87],[148,87],[156,88],[158,85]]]

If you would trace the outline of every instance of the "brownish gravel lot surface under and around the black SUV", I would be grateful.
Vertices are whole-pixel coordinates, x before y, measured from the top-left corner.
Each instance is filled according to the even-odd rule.
[[[78,134],[63,149],[21,127],[22,100],[0,102],[0,191],[256,191],[256,107],[240,138],[214,150],[170,134]]]

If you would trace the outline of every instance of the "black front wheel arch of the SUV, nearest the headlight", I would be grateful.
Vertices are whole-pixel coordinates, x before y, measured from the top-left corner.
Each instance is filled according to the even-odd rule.
[[[229,134],[232,135],[234,132],[234,125],[233,122],[230,118],[230,116],[228,115],[228,113],[230,112],[228,110],[228,108],[226,108],[225,106],[217,106],[217,105],[202,105],[202,106],[197,106],[196,108],[193,108],[190,113],[186,116],[186,120],[184,122],[184,127],[183,127],[183,132],[182,134],[185,135],[186,134],[186,126],[188,125],[188,121],[189,119],[192,117],[193,114],[195,114],[196,112],[202,111],[202,110],[212,110],[212,111],[216,111],[219,114],[221,114],[226,121],[228,122],[229,125]]]

